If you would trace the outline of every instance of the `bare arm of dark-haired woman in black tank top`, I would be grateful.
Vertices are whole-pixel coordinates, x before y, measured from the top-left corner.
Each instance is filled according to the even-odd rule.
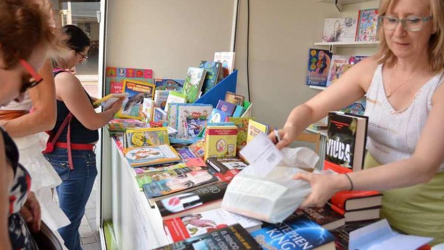
[[[73,115],[87,129],[96,130],[108,123],[122,106],[123,98],[111,108],[96,113],[79,79],[71,73],[63,72],[55,77],[56,97],[61,99]]]

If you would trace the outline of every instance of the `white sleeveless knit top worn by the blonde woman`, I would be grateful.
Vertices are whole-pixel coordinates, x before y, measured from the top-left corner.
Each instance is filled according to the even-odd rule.
[[[426,82],[412,102],[396,111],[388,102],[382,84],[382,65],[378,65],[367,91],[368,116],[367,149],[380,164],[387,164],[411,157],[431,110],[431,98],[439,86],[441,73]],[[441,164],[439,172],[444,171]]]

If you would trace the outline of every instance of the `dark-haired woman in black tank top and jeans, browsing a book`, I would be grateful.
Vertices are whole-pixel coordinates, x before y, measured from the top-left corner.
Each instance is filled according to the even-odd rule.
[[[57,121],[52,130],[53,134],[59,130],[63,132],[54,150],[45,157],[62,179],[62,184],[57,187],[59,206],[71,221],[68,226],[60,228],[59,233],[70,250],[77,250],[81,249],[78,229],[97,175],[93,150],[98,140],[97,129],[114,117],[122,100],[104,112],[94,111],[91,96],[79,79],[67,71],[87,59],[89,38],[74,25],[64,26],[63,32],[69,37],[67,44],[71,51],[63,58],[54,59]]]

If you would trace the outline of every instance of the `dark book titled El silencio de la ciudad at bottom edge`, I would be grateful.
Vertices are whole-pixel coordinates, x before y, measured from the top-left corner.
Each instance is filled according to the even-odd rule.
[[[259,250],[260,245],[240,224],[216,229],[155,250]]]

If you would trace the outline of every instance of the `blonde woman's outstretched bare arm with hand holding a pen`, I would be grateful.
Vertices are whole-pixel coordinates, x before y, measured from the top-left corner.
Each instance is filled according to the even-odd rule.
[[[269,138],[281,149],[292,143],[310,123],[325,117],[329,111],[340,110],[355,102],[367,91],[376,67],[374,58],[366,58],[356,64],[334,84],[293,109],[284,128],[279,131],[281,142],[275,141],[274,133]]]

